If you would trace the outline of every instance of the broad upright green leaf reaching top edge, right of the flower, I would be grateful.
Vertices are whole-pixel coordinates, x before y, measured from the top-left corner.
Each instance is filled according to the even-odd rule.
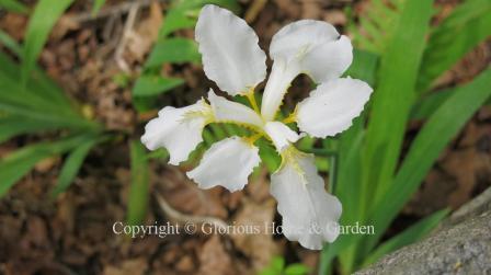
[[[375,200],[388,188],[399,160],[432,15],[433,1],[404,1],[399,24],[380,60],[363,164],[364,184],[373,186],[365,190],[375,190]]]

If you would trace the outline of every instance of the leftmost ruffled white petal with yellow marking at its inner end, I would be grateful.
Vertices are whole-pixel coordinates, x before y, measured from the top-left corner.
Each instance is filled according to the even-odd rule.
[[[178,165],[203,141],[203,127],[209,116],[209,105],[204,100],[181,108],[164,107],[145,126],[141,142],[149,150],[164,147],[170,154],[169,163]]]

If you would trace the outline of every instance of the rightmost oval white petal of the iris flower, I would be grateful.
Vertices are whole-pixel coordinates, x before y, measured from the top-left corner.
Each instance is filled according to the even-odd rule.
[[[334,136],[350,128],[372,91],[367,83],[351,78],[322,83],[298,104],[298,127],[313,137]]]

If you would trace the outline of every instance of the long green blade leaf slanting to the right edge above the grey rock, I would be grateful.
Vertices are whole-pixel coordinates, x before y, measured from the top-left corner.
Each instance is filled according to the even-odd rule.
[[[374,208],[369,221],[375,226],[370,247],[378,241],[452,138],[491,96],[491,69],[481,72],[472,82],[459,87],[434,112],[411,145],[390,188]]]

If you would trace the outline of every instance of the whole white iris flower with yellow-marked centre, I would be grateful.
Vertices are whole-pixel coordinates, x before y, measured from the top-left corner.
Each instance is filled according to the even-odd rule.
[[[341,216],[341,204],[326,192],[313,156],[300,152],[294,142],[304,135],[326,138],[347,129],[368,101],[372,88],[367,83],[340,78],[353,59],[350,39],[315,20],[300,20],[279,30],[270,46],[274,62],[260,110],[254,88],[266,77],[266,55],[254,31],[230,11],[208,4],[199,13],[195,35],[206,76],[229,95],[247,96],[252,108],[210,90],[208,102],[202,99],[186,107],[162,108],[145,127],[141,141],[150,150],[167,148],[169,163],[178,165],[203,141],[207,124],[248,126],[255,135],[216,142],[187,175],[202,188],[242,190],[261,161],[254,141],[265,137],[282,156],[281,167],[271,176],[271,194],[278,202],[284,234],[308,249],[334,241],[339,232],[332,225]],[[288,87],[300,73],[319,85],[287,119],[275,121]],[[296,123],[301,134],[290,129],[289,123]]]

